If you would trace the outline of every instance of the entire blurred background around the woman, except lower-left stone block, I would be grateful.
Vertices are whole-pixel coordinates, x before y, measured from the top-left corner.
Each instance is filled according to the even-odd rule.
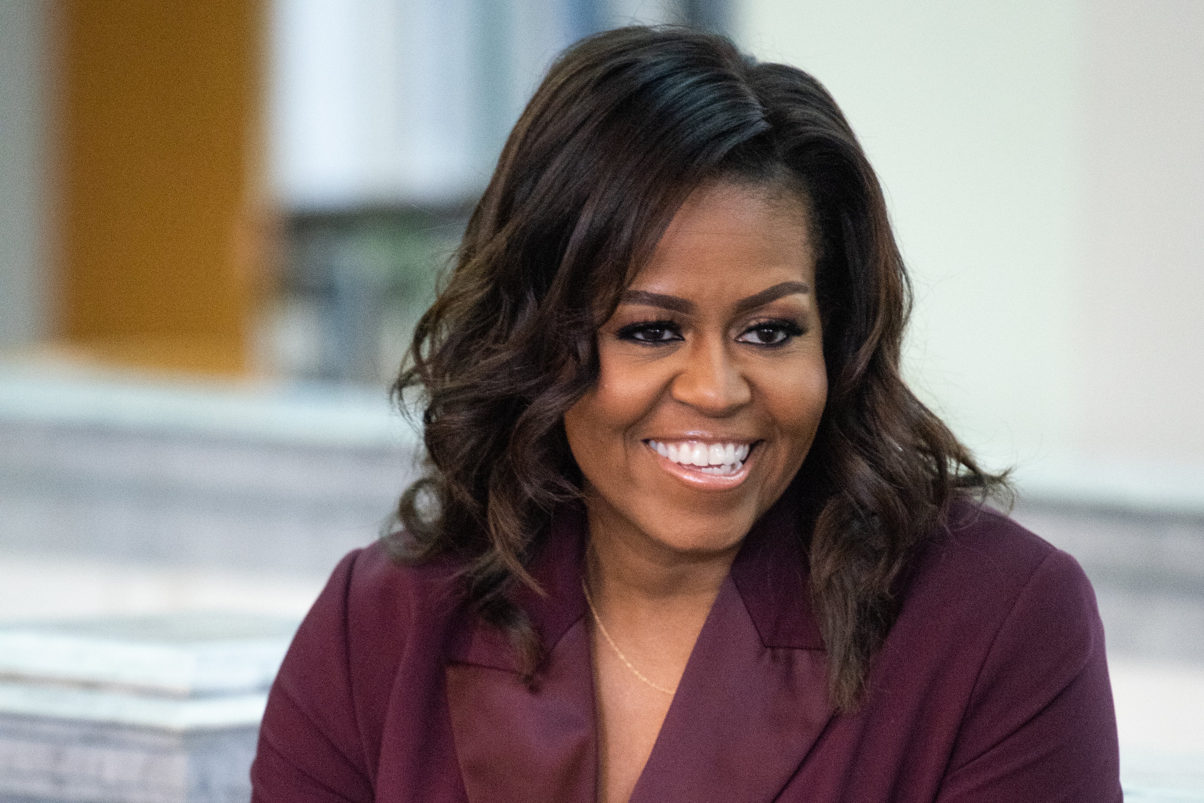
[[[665,22],[842,105],[909,380],[1092,577],[1127,783],[1204,799],[1198,0],[0,0],[0,625],[303,614],[524,102]]]

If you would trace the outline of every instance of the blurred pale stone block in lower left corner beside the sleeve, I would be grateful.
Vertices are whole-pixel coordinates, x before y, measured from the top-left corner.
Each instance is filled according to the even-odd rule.
[[[248,799],[295,627],[185,614],[0,629],[0,799]]]

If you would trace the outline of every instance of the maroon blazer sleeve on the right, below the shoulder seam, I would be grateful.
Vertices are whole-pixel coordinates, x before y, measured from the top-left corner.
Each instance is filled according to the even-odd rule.
[[[1003,620],[937,799],[1122,799],[1103,624],[1070,555],[1052,552]]]

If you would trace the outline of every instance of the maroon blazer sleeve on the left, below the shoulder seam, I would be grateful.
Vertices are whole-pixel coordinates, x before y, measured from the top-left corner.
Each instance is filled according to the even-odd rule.
[[[353,703],[348,554],[301,623],[267,697],[250,768],[252,803],[371,803]]]

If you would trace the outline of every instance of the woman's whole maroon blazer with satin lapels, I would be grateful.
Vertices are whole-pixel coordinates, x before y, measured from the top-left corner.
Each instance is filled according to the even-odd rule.
[[[1073,558],[995,512],[916,563],[864,702],[833,714],[789,517],[749,534],[633,803],[1121,801],[1094,595]],[[557,517],[525,594],[538,689],[460,605],[455,566],[347,555],[267,702],[253,801],[592,803],[584,517]]]

